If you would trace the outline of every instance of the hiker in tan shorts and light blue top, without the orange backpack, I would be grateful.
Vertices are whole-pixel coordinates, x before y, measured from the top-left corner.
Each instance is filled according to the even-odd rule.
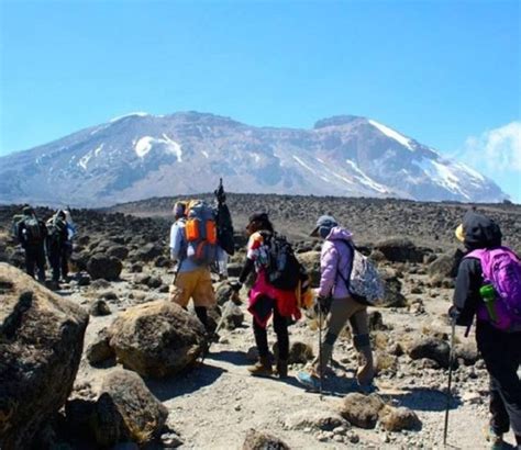
[[[193,301],[196,315],[211,334],[207,308],[215,304],[210,268],[208,263],[198,262],[189,255],[187,238],[187,202],[176,202],[174,205],[175,223],[170,228],[170,256],[177,261],[176,277],[170,286],[170,300],[187,308],[190,299]]]

